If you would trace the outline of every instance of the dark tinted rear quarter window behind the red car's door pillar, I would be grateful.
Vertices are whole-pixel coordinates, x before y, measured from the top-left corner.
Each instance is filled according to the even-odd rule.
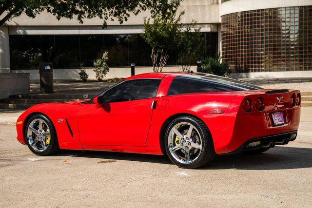
[[[176,76],[172,81],[168,95],[181,95],[188,93],[205,93],[205,92],[221,92],[221,91],[236,91],[233,87],[213,83],[204,79],[191,78],[184,76]]]

